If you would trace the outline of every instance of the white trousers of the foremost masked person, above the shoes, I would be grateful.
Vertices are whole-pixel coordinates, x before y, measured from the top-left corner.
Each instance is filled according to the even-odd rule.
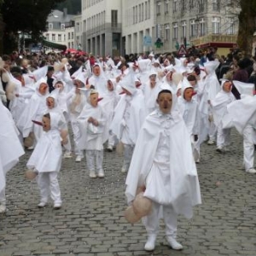
[[[177,236],[177,213],[173,211],[172,206],[163,206],[157,202],[152,202],[151,213],[143,219],[143,223],[148,232],[148,236],[156,236],[159,230],[160,207],[162,207],[163,218],[166,224],[166,236]]]

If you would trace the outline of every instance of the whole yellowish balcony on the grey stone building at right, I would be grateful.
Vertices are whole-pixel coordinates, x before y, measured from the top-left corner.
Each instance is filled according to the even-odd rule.
[[[190,44],[200,48],[208,46],[232,47],[236,44],[237,35],[215,35],[209,34],[201,38],[191,38]]]

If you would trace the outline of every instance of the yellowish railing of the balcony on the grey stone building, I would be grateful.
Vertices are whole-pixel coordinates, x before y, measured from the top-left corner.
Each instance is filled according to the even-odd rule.
[[[190,39],[190,44],[201,45],[208,43],[233,43],[236,44],[237,35],[214,35],[209,34],[201,38]]]

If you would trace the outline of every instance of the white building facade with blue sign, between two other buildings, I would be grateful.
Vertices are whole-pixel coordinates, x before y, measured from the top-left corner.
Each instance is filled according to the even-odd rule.
[[[154,49],[154,0],[122,0],[122,38],[125,54]]]

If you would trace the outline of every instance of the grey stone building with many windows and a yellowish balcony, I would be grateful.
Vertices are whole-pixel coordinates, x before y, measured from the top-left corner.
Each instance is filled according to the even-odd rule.
[[[187,47],[236,44],[239,9],[232,0],[154,0],[156,33],[163,42],[159,52]]]

